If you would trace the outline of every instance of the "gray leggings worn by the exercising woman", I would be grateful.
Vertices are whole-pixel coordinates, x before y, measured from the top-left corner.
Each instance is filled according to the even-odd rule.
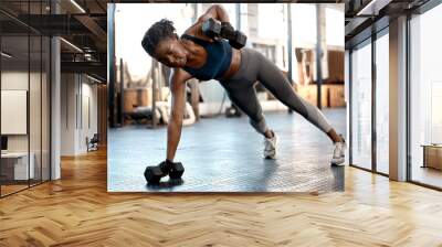
[[[330,131],[332,126],[320,110],[293,90],[288,79],[275,64],[252,49],[242,49],[239,71],[231,78],[220,83],[230,100],[249,116],[250,124],[257,132],[264,133],[267,126],[253,86],[256,80],[285,106],[301,114],[322,131]]]

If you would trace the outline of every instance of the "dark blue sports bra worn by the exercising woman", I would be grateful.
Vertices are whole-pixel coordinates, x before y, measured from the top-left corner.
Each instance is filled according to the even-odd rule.
[[[182,34],[181,39],[187,39],[201,45],[207,52],[206,64],[199,68],[185,66],[183,69],[193,77],[201,80],[220,78],[229,69],[232,61],[232,46],[225,40],[204,41],[189,34]]]

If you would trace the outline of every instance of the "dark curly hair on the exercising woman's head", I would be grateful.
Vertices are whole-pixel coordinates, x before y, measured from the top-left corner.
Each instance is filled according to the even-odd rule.
[[[158,43],[170,37],[178,37],[173,22],[161,19],[146,31],[141,45],[150,56],[154,56]]]

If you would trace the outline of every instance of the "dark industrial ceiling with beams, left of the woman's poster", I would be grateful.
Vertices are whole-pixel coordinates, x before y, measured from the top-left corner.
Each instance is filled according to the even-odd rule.
[[[105,80],[106,8],[105,0],[53,0],[52,6],[49,0],[1,0],[2,51],[13,55],[3,66],[8,64],[9,67],[20,68],[27,66],[28,62],[31,65],[39,63],[41,36],[57,35],[63,37],[62,72],[94,74]],[[48,49],[43,49],[43,52],[46,54]]]

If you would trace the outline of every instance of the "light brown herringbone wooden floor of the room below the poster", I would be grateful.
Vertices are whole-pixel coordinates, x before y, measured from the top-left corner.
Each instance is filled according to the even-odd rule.
[[[0,200],[0,246],[442,246],[442,193],[346,168],[346,192],[109,194],[104,151]]]

